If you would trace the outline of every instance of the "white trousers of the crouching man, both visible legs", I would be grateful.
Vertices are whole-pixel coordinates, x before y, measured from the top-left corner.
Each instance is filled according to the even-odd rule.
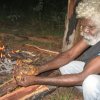
[[[62,75],[80,73],[83,71],[85,63],[82,61],[72,61],[59,68]],[[82,86],[75,86],[83,92],[84,100],[100,100],[100,75],[89,75]]]

